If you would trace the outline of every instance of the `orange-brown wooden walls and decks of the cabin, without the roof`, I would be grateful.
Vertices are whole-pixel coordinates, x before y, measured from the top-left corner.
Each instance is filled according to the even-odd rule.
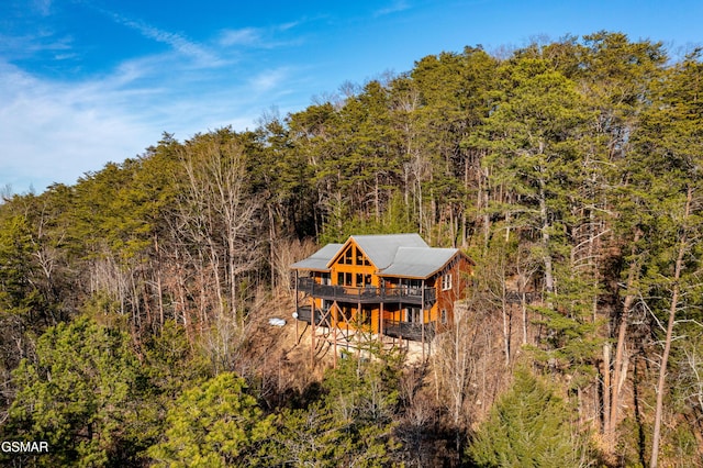
[[[353,238],[331,261],[330,272],[311,271],[310,277],[298,278],[299,292],[309,297],[298,307],[298,320],[310,323],[314,308],[316,325],[358,327],[416,341],[431,339],[453,323],[454,302],[465,297],[472,274],[468,257],[458,253],[424,280],[382,278]],[[447,275],[451,287],[445,289]]]

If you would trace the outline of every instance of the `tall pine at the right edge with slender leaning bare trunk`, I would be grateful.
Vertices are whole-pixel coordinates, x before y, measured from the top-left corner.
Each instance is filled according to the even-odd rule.
[[[647,227],[654,255],[644,266],[643,286],[650,298],[649,307],[667,321],[657,382],[651,467],[658,463],[667,366],[674,345],[677,316],[700,315],[694,311],[700,307],[703,268],[701,51],[695,51],[666,78],[656,88],[655,105],[643,115],[641,133],[635,135],[647,168],[634,177],[645,207],[652,214]]]

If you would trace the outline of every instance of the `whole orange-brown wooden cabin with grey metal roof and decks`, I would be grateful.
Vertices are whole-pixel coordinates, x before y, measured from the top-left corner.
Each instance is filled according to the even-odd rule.
[[[429,247],[417,234],[353,235],[291,265],[294,316],[424,343],[453,323],[472,266],[461,250]]]

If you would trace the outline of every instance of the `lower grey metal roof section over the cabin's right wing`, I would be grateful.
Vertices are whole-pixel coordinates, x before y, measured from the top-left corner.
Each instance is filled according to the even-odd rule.
[[[400,247],[391,265],[379,271],[378,275],[429,278],[447,265],[458,252],[457,248]]]

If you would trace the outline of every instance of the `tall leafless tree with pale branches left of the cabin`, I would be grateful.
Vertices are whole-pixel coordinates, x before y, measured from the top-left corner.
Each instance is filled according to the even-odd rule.
[[[242,327],[243,304],[253,286],[246,279],[260,260],[263,225],[243,147],[221,132],[189,142],[179,158],[186,175],[177,214],[182,257],[198,260],[196,277],[201,278],[200,293],[191,296],[203,299],[201,314],[215,321],[228,315]]]

